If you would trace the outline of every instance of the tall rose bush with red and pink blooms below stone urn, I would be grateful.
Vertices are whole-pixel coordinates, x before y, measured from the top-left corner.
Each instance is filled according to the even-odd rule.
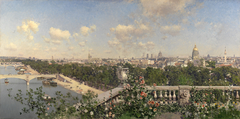
[[[122,107],[130,115],[137,118],[152,118],[159,110],[160,104],[153,100],[153,92],[146,89],[145,80],[143,77],[130,77],[126,80],[127,85],[120,92],[124,104]],[[155,87],[156,84],[153,84]]]

